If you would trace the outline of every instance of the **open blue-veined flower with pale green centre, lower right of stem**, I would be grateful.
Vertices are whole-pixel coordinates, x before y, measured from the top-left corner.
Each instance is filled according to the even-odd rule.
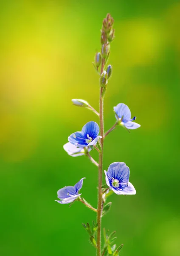
[[[125,163],[115,162],[108,167],[106,175],[107,186],[117,195],[135,195],[136,191],[129,182],[129,167]]]

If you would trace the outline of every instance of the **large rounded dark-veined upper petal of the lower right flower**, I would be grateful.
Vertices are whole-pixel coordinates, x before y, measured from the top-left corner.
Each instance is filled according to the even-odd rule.
[[[129,167],[123,162],[111,163],[107,170],[107,177],[110,181],[110,185],[112,177],[119,180],[120,183],[128,183],[129,174]]]

